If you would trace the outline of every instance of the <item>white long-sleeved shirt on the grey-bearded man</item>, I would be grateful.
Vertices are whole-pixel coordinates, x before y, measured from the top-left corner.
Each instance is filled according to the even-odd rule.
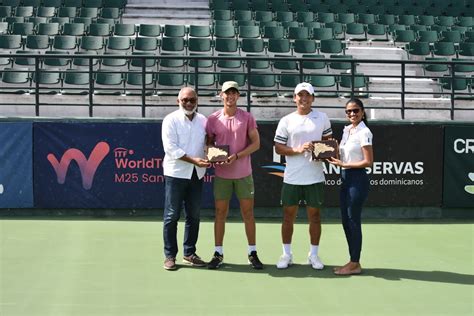
[[[163,159],[165,176],[191,179],[194,168],[199,179],[204,176],[206,168],[195,166],[180,158],[184,155],[204,158],[206,121],[206,117],[200,113],[195,113],[190,120],[181,110],[176,110],[163,119],[161,139],[165,151]]]

